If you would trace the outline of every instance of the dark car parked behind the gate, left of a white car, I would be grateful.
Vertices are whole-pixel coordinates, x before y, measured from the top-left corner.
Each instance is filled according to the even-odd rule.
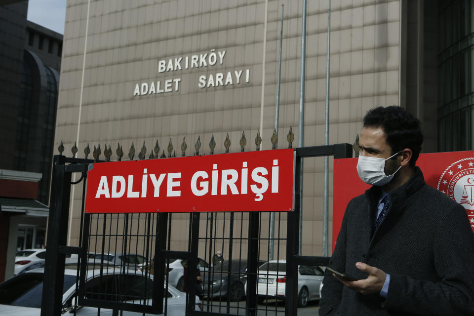
[[[259,260],[258,266],[265,262]],[[204,296],[229,296],[231,301],[241,301],[245,297],[246,273],[247,260],[225,260],[212,266],[208,272],[201,273]]]

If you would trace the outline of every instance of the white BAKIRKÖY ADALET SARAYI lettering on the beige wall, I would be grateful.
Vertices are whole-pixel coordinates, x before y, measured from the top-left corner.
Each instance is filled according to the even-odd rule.
[[[225,55],[225,50],[216,52],[215,49],[211,49],[210,53],[176,57],[167,60],[163,59],[158,61],[158,74],[223,65]],[[199,76],[196,84],[197,87],[203,89],[216,86],[240,84],[240,82],[250,82],[249,69],[232,70],[222,73],[209,74],[208,76],[201,75]],[[178,91],[180,83],[181,78],[137,83],[135,85],[133,96]]]

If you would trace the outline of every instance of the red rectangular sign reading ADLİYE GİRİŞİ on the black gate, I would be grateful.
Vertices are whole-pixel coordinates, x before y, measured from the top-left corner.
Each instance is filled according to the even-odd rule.
[[[293,149],[94,163],[85,212],[294,209]]]

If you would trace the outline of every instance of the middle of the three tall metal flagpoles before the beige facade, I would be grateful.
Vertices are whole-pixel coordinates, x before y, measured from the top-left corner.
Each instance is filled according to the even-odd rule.
[[[304,146],[305,129],[305,72],[306,72],[306,0],[303,0],[303,22],[301,31],[301,75],[300,75],[300,120],[298,126],[298,147]],[[300,170],[300,236],[298,253],[301,254],[301,234],[303,231],[303,159]]]

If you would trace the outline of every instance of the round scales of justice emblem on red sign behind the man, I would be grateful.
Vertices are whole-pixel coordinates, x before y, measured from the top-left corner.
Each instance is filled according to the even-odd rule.
[[[464,206],[474,230],[474,158],[453,162],[441,174],[436,189]]]

